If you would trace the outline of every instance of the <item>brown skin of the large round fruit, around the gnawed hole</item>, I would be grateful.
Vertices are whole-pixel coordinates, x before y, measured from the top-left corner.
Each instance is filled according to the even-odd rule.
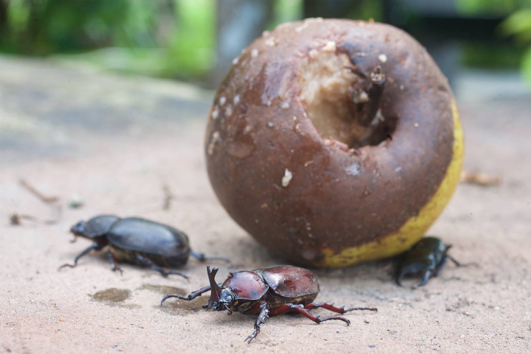
[[[367,76],[376,65],[387,76],[381,110],[398,119],[395,132],[359,155],[323,139],[299,98],[300,58],[328,41],[353,48]],[[322,264],[324,248],[340,253],[396,232],[437,191],[452,160],[453,96],[431,56],[404,31],[309,19],[264,34],[233,64],[209,116],[208,174],[230,216],[274,253]],[[285,169],[293,178],[283,187]]]

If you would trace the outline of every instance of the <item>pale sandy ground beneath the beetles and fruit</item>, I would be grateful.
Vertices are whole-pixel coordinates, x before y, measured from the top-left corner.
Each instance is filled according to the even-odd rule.
[[[185,230],[192,247],[233,260],[228,271],[284,263],[246,235],[221,208],[205,173],[202,138],[210,97],[174,83],[121,78],[0,58],[0,351],[146,352],[514,352],[531,350],[531,101],[460,105],[465,168],[502,177],[495,187],[459,185],[430,230],[451,254],[477,266],[449,264],[423,288],[400,288],[391,261],[316,273],[318,300],[374,306],[348,313],[352,325],[317,325],[302,316],[268,318],[250,345],[254,316],[203,312],[159,301],[207,284],[205,264],[162,278],[105,254],[75,269],[58,265],[89,245],[71,244],[70,226],[99,213],[138,215]],[[19,184],[58,197],[56,209]],[[173,198],[164,204],[164,187]],[[67,206],[80,193],[85,205]],[[221,279],[220,277],[220,279]],[[117,289],[117,290],[109,290]],[[326,314],[325,310],[316,313]]]

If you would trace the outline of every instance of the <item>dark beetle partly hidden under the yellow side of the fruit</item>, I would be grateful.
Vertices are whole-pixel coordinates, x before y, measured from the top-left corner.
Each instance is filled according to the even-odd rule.
[[[425,237],[418,241],[408,252],[402,256],[402,262],[398,268],[396,281],[402,286],[400,281],[407,274],[422,274],[422,281],[419,287],[427,283],[432,276],[436,277],[441,272],[446,261],[450,259],[457,266],[460,266],[452,256],[448,254],[451,245],[445,245],[437,237]]]

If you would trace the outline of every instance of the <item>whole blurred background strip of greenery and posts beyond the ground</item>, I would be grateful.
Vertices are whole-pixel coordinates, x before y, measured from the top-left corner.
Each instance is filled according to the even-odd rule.
[[[214,89],[264,30],[307,17],[416,37],[461,100],[528,94],[531,0],[0,0],[0,51]]]

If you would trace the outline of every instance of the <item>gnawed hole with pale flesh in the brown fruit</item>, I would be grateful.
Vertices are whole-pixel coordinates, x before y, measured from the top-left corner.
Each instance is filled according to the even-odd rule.
[[[364,75],[357,70],[346,54],[321,50],[302,60],[299,76],[306,113],[317,131],[349,148],[380,144],[397,123],[379,109],[386,81],[381,67]]]

